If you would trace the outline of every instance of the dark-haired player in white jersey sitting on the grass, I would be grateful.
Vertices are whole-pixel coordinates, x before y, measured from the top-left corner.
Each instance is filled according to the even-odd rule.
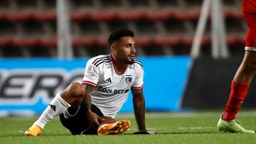
[[[129,120],[115,121],[131,89],[134,115],[139,131],[146,131],[144,70],[134,60],[134,33],[123,29],[108,38],[110,55],[99,55],[87,61],[82,84],[72,83],[56,94],[40,118],[25,135],[38,136],[55,116],[73,135],[108,135],[127,131]]]

